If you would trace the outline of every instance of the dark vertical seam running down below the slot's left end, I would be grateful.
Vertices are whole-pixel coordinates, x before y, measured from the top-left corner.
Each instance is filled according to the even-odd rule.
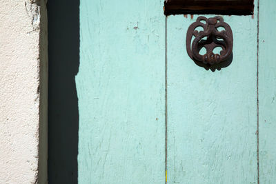
[[[167,124],[168,124],[168,96],[167,96],[167,16],[166,16],[166,23],[165,23],[165,127],[166,127],[166,131],[165,131],[165,139],[166,139],[166,143],[165,143],[165,174],[166,174],[166,180],[165,180],[165,184],[167,183],[167,137],[168,137],[168,131],[167,131]]]

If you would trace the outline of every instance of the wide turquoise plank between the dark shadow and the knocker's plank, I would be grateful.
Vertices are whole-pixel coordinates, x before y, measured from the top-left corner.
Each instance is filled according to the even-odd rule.
[[[79,183],[164,183],[163,1],[81,0]]]

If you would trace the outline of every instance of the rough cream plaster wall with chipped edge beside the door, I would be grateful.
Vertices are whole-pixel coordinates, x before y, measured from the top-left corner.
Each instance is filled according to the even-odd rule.
[[[44,0],[0,0],[0,183],[47,181],[46,164],[39,167],[47,155],[47,131],[40,130],[47,113],[41,78],[47,72],[47,29],[40,26],[41,8],[46,19]]]

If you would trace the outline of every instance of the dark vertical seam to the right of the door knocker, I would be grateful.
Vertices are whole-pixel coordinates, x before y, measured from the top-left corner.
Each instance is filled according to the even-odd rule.
[[[257,11],[257,183],[259,184],[259,0]]]

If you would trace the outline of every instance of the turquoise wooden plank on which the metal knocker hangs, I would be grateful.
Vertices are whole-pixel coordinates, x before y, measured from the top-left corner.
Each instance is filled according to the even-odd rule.
[[[195,19],[167,19],[168,183],[257,183],[257,17],[223,18],[233,62],[215,72],[186,52]]]

